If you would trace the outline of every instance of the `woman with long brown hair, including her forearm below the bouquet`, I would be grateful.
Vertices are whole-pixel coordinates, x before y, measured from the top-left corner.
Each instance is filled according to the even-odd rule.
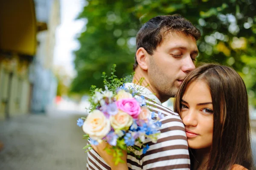
[[[184,79],[174,105],[185,125],[192,170],[253,168],[247,92],[236,71],[217,64],[199,66]],[[115,167],[102,152],[105,146],[93,148],[112,170],[128,169],[127,164]]]

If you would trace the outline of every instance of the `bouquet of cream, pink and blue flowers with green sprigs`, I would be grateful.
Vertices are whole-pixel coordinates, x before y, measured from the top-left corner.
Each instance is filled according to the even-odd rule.
[[[77,125],[86,134],[84,138],[90,141],[83,148],[87,149],[85,152],[92,149],[91,144],[105,141],[111,145],[111,150],[106,148],[107,152],[113,154],[113,161],[118,164],[122,162],[122,150],[128,153],[143,150],[146,153],[149,147],[143,144],[145,139],[157,142],[162,114],[155,114],[148,109],[140,89],[125,86],[130,78],[118,79],[114,75],[115,65],[112,70],[110,78],[105,72],[102,74],[105,89],[91,87],[89,114],[87,118],[79,118]]]

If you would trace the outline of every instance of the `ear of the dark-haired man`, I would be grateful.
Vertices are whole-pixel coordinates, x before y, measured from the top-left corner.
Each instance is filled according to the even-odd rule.
[[[148,52],[143,47],[137,49],[136,59],[141,69],[148,70],[149,57]]]

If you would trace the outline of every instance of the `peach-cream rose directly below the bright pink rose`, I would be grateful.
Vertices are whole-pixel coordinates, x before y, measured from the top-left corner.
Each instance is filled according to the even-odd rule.
[[[119,110],[116,115],[110,117],[110,123],[114,130],[128,129],[133,123],[133,118]]]

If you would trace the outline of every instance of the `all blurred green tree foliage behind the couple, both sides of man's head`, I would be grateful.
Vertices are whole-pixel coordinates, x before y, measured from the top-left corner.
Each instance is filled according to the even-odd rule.
[[[74,92],[100,86],[101,72],[117,64],[119,77],[130,74],[135,36],[157,15],[181,14],[201,30],[198,61],[232,66],[247,86],[256,106],[256,1],[254,0],[87,0],[79,18],[87,18],[76,54]]]

